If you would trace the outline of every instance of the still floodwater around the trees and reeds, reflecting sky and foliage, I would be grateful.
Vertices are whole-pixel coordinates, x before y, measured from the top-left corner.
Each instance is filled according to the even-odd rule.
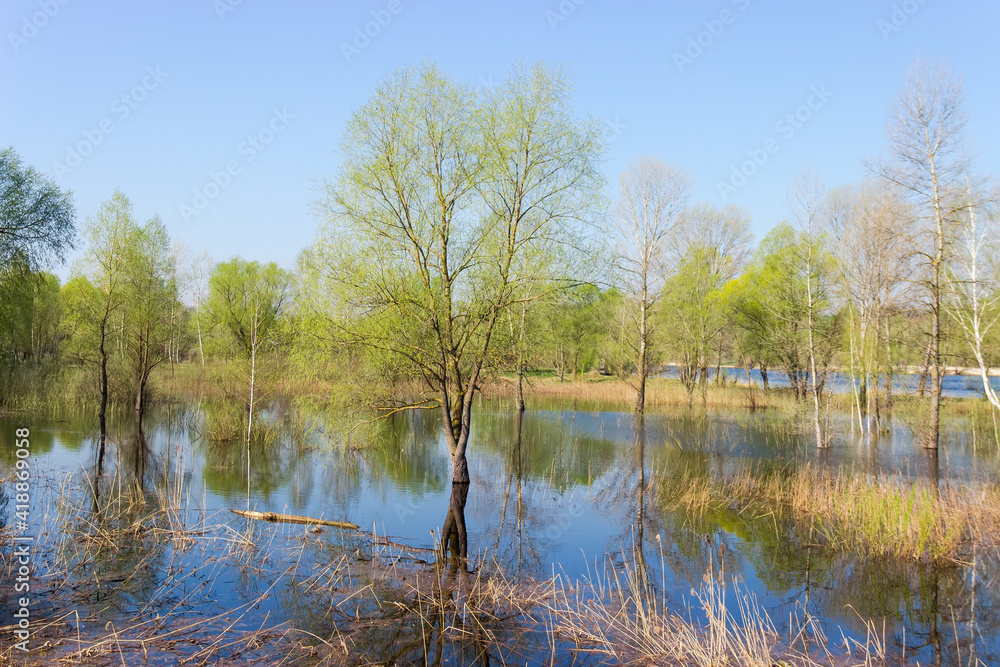
[[[225,510],[248,508],[350,521],[411,547],[411,553],[428,554],[414,559],[414,567],[435,558],[421,550],[436,549],[445,540],[467,553],[469,569],[499,564],[522,580],[553,574],[575,579],[608,563],[624,567],[638,553],[654,570],[651,580],[664,598],[678,610],[691,607],[686,613],[696,620],[700,612],[692,604],[692,589],[710,566],[724,567],[726,576],[741,580],[757,597],[786,637],[797,632],[803,618],[812,618],[835,645],[842,644],[841,637],[864,641],[871,620],[884,631],[894,655],[905,645],[909,659],[957,664],[959,651],[964,662],[974,650],[986,664],[1000,663],[1000,592],[993,585],[998,567],[985,554],[975,555],[967,566],[873,561],[804,545],[771,516],[721,512],[692,518],[644,492],[673,466],[708,477],[747,462],[928,478],[940,485],[994,483],[1000,472],[995,446],[976,441],[960,422],[948,426],[937,455],[915,446],[903,425],[872,441],[852,435],[846,418],[833,446],[817,451],[788,420],[767,414],[650,414],[639,430],[635,417],[625,412],[552,406],[518,416],[484,403],[475,413],[470,442],[472,484],[467,496],[456,498],[447,445],[430,411],[398,414],[378,423],[364,442],[345,448],[328,435],[321,418],[303,428],[275,408],[264,415],[272,436],[251,450],[249,493],[245,444],[204,437],[211,417],[205,407],[168,406],[148,415],[141,429],[129,421],[113,424],[103,454],[87,419],[0,420],[0,476],[9,474],[16,460],[15,428],[30,426],[34,535],[64,530],[60,516],[85,521],[90,505],[99,506],[115,493],[95,479],[114,478],[119,470],[140,480],[146,496],[174,498],[185,525],[226,523],[239,530],[246,521]],[[12,483],[5,491],[0,521],[10,523]],[[76,513],[60,515],[56,507],[67,503],[76,503]],[[199,569],[214,554],[137,535],[99,561],[70,559],[77,568],[72,576],[82,581],[99,571],[102,577],[121,573],[128,582],[116,587],[111,576],[112,583],[87,589],[78,603],[93,614],[93,627],[108,621],[121,627],[124,617],[162,605],[181,605],[192,617],[208,617],[252,604],[238,619],[241,627],[287,622],[322,637],[350,623],[339,605],[310,601],[296,592],[294,578],[276,583],[273,573],[283,571],[286,560],[319,565],[344,553],[361,553],[359,542],[335,529],[311,536],[302,526],[256,526],[265,538],[278,536],[265,558],[269,569]],[[190,590],[168,586],[165,573],[175,570],[194,575],[185,583]],[[144,576],[135,579],[137,571]],[[6,602],[12,604],[11,598]],[[44,599],[40,604],[44,611]],[[415,654],[400,654],[400,637],[376,630],[361,636],[370,639],[365,659],[426,659],[425,644],[412,649]],[[517,660],[548,662],[548,654],[533,650],[521,649]],[[460,649],[449,651],[445,662],[469,659]]]

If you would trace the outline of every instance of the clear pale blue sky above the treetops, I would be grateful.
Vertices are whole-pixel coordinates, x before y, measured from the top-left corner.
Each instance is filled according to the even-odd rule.
[[[3,2],[0,146],[72,189],[81,224],[119,187],[141,219],[158,213],[217,259],[293,266],[316,226],[314,179],[335,173],[351,110],[383,74],[425,58],[476,85],[517,60],[566,65],[578,111],[608,124],[612,186],[652,154],[691,173],[696,199],[721,204],[718,183],[773,139],[728,195],[758,239],[786,215],[799,170],[830,186],[864,176],[918,54],[963,77],[970,144],[982,171],[1000,172],[994,2],[63,2]],[[386,25],[345,57],[372,12]],[[699,37],[679,67],[675,53]],[[808,119],[778,126],[813,89]],[[81,143],[89,154],[68,160]],[[230,162],[238,173],[195,201]],[[182,206],[199,204],[186,221]]]

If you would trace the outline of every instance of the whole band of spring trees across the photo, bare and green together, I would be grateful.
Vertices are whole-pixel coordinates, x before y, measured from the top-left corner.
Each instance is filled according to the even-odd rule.
[[[893,376],[915,367],[936,446],[946,364],[978,369],[1000,409],[987,379],[1000,364],[997,196],[963,125],[959,84],[918,63],[870,177],[828,190],[804,174],[755,247],[746,211],[692,203],[686,172],[656,158],[637,159],[607,207],[600,127],[573,115],[558,68],[518,67],[483,91],[425,65],[386,77],[348,123],[294,271],[192,257],[116,192],[62,286],[41,267],[73,243],[71,201],[7,150],[0,400],[18,369],[70,364],[102,417],[109,404],[141,412],[158,369],[224,360],[252,414],[261,369],[282,368],[388,410],[442,410],[458,480],[490,376],[515,378],[523,407],[532,371],[616,375],[641,412],[667,363],[689,402],[723,364],[765,383],[780,371],[812,402],[823,446],[831,369],[856,378],[861,418],[887,410]]]

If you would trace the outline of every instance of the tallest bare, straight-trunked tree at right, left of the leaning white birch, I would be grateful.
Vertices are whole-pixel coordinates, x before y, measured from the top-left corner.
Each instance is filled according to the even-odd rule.
[[[888,154],[872,165],[913,205],[914,253],[931,313],[931,398],[924,446],[937,449],[941,423],[941,309],[949,236],[956,216],[972,202],[964,196],[971,170],[963,130],[962,85],[943,66],[917,60],[892,109]]]

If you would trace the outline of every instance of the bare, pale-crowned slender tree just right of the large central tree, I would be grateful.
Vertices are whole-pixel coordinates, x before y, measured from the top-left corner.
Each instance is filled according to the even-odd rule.
[[[670,234],[691,191],[688,175],[657,158],[639,158],[626,169],[619,183],[615,222],[618,232],[618,266],[633,299],[630,318],[634,342],[635,411],[646,407],[646,380],[653,370],[654,326],[652,311],[669,273]]]

